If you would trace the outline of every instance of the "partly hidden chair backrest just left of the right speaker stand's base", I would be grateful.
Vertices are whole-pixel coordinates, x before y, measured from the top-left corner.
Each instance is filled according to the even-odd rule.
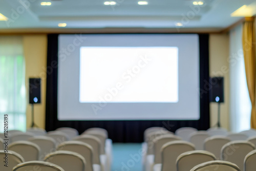
[[[204,149],[204,140],[210,137],[206,131],[198,131],[190,134],[189,141],[193,143],[197,150]]]

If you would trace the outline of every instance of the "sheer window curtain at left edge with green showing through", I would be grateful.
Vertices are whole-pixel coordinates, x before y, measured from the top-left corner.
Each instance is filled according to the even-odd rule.
[[[21,36],[0,36],[0,132],[4,115],[8,130],[26,131],[25,60]]]

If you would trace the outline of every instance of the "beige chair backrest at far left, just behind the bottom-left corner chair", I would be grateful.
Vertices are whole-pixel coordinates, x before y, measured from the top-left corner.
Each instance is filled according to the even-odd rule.
[[[35,161],[39,159],[40,147],[30,141],[13,142],[9,145],[9,150],[22,155],[25,161]]]

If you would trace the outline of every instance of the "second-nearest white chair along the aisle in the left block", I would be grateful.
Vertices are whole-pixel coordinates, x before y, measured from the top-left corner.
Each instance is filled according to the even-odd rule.
[[[80,135],[73,139],[74,141],[85,142],[93,148],[93,164],[101,165],[101,170],[107,168],[106,155],[100,155],[100,140],[93,135]]]

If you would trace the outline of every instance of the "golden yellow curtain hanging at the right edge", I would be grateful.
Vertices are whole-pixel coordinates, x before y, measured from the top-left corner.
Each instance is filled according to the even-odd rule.
[[[256,129],[255,110],[255,28],[254,17],[246,17],[243,24],[243,51],[247,86],[251,100],[251,127]]]

